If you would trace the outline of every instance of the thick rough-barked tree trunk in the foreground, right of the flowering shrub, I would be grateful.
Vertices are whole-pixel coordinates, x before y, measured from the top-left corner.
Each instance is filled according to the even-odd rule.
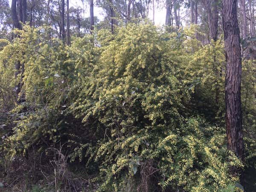
[[[243,161],[241,47],[237,0],[222,0],[222,20],[227,61],[225,80],[227,148]]]

